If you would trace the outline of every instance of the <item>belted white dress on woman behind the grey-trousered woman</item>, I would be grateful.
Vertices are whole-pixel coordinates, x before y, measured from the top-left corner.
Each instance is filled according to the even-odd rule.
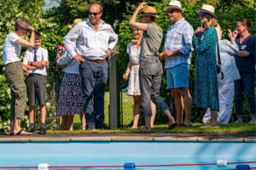
[[[138,75],[138,70],[140,67],[140,65],[138,65],[140,52],[141,48],[137,48],[136,45],[129,43],[127,47],[127,54],[129,54],[129,58],[131,60],[131,72],[127,95],[141,95]]]

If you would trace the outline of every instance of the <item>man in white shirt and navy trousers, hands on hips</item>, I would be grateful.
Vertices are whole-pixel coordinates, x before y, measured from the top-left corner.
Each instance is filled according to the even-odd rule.
[[[118,42],[118,36],[113,28],[101,20],[101,17],[102,6],[97,3],[92,4],[89,19],[74,26],[63,40],[67,52],[80,64],[79,71],[88,130],[107,128],[103,124],[104,94],[108,81],[106,58]],[[92,99],[94,99],[93,102]]]

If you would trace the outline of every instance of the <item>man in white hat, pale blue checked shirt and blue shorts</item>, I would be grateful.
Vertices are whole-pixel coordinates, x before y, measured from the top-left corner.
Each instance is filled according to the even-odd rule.
[[[177,127],[191,126],[192,98],[189,94],[189,65],[191,55],[193,27],[183,19],[184,8],[177,0],[172,0],[165,8],[171,20],[166,33],[166,42],[160,59],[165,59],[167,88],[171,89],[176,107]],[[183,110],[185,119],[183,121]]]

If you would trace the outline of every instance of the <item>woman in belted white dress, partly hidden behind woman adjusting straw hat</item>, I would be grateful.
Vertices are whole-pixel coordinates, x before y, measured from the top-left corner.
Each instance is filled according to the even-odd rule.
[[[133,106],[133,125],[131,128],[137,128],[139,114],[141,111],[141,92],[140,92],[140,85],[139,85],[139,54],[141,52],[140,42],[143,37],[143,31],[138,30],[137,28],[133,28],[133,35],[136,37],[136,40],[131,40],[127,47],[126,53],[129,54],[129,63],[127,65],[127,69],[123,76],[124,80],[127,81],[129,78],[129,85],[128,85],[128,92],[127,95],[133,96],[134,106]],[[150,121],[150,127],[154,127],[154,117],[156,108],[154,103],[151,101],[151,109],[152,109],[152,116]]]

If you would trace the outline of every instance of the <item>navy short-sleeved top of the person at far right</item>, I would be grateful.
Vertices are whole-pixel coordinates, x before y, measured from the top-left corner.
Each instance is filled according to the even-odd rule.
[[[245,50],[250,53],[247,57],[239,57],[235,55],[236,66],[241,72],[255,71],[255,41],[256,38],[253,35],[247,37],[242,43],[240,43],[240,37],[236,38],[236,44],[239,47],[239,51]]]

